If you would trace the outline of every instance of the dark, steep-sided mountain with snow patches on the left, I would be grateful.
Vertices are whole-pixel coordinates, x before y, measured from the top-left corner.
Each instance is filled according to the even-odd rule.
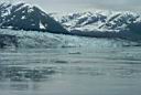
[[[66,32],[53,18],[35,6],[26,3],[1,3],[0,28],[14,30],[33,30],[48,32]]]

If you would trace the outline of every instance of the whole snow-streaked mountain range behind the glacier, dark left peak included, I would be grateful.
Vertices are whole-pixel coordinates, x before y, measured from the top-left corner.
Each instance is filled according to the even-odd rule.
[[[141,14],[106,10],[47,14],[26,3],[1,3],[0,28],[138,41],[141,40]]]

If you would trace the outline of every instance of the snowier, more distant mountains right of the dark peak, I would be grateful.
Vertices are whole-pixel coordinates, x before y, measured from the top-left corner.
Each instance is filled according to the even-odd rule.
[[[122,11],[95,11],[70,14],[52,13],[70,34],[141,40],[141,14]]]

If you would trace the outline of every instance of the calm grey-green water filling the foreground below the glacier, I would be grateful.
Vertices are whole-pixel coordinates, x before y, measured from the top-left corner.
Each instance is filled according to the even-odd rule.
[[[0,50],[0,95],[140,95],[141,48]]]

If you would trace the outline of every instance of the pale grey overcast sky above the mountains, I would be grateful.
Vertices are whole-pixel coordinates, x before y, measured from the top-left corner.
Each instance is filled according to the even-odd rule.
[[[0,0],[15,1],[15,0]],[[70,12],[94,9],[141,10],[141,0],[17,0],[40,6],[46,12]]]

